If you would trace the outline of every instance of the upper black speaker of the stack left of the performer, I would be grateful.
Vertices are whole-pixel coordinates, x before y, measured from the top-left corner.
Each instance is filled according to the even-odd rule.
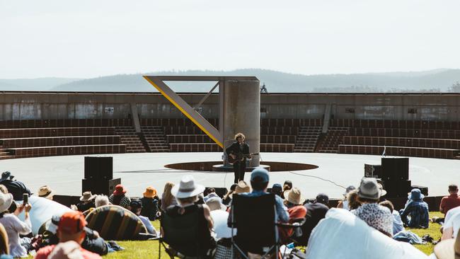
[[[112,179],[112,156],[85,156],[85,179]]]

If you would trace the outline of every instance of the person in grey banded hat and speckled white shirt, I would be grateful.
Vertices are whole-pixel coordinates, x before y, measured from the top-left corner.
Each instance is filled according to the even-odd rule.
[[[357,189],[358,201],[362,204],[352,211],[369,226],[387,236],[393,236],[393,216],[388,208],[379,205],[381,190],[375,178],[362,178]]]

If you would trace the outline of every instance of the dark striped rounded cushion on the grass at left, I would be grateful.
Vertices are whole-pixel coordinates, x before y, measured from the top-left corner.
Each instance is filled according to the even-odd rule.
[[[93,209],[86,216],[86,221],[88,228],[98,231],[107,240],[132,240],[139,233],[147,233],[136,214],[116,205]]]

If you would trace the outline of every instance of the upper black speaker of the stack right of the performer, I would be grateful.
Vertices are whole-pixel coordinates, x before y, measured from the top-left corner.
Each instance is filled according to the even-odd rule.
[[[382,158],[382,180],[409,180],[409,158]]]

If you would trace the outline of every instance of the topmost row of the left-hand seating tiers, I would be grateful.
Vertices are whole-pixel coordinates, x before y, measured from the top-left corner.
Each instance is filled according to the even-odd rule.
[[[1,129],[40,127],[130,127],[131,119],[1,120]]]

